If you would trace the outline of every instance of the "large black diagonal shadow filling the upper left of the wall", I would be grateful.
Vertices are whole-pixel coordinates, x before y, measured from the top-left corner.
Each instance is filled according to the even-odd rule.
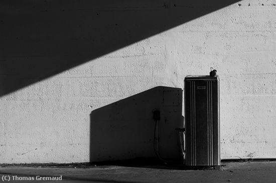
[[[0,96],[238,0],[1,0]]]

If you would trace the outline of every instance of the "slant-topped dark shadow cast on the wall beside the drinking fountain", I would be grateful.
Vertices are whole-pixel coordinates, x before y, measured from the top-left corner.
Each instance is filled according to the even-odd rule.
[[[153,110],[162,158],[181,159],[178,132],[184,125],[181,88],[157,86],[95,109],[90,114],[90,162],[156,157]]]

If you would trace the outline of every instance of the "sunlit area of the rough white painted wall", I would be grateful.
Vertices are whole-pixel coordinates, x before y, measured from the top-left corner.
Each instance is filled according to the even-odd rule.
[[[155,86],[183,88],[185,75],[211,66],[221,157],[276,157],[272,3],[242,0],[2,96],[0,162],[89,161],[92,110]]]

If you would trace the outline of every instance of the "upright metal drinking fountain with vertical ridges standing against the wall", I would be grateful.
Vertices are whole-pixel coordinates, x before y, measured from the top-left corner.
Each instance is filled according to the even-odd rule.
[[[188,75],[184,80],[185,164],[220,165],[219,77]]]

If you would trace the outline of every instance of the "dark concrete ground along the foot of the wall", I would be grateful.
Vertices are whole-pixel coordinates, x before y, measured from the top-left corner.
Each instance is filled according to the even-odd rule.
[[[276,161],[222,162],[221,169],[189,170],[182,165],[72,165],[43,167],[2,165],[0,176],[10,182],[276,182]],[[15,177],[35,180],[13,180]],[[62,180],[41,181],[36,176],[60,176]],[[8,181],[8,180],[6,180]]]

